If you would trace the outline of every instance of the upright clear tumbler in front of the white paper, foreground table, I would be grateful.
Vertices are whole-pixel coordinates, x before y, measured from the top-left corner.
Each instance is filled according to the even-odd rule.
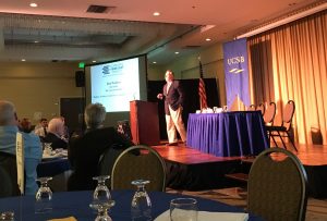
[[[197,201],[175,198],[170,201],[170,221],[197,221]]]

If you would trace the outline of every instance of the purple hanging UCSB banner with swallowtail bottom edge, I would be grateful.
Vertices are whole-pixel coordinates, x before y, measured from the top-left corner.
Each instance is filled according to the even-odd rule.
[[[250,106],[246,38],[223,44],[227,106],[239,98]]]

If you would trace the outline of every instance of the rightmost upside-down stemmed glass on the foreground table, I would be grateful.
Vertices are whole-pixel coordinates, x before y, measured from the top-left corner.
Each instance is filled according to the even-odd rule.
[[[145,185],[148,183],[149,181],[145,180],[132,181],[132,184],[137,187],[131,205],[131,214],[133,221],[152,220],[152,201],[148,194],[145,191]]]

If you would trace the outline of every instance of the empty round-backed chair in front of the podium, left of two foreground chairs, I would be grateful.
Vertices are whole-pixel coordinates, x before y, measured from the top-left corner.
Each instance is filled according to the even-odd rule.
[[[140,155],[133,154],[140,150]],[[148,180],[148,191],[166,189],[166,163],[159,154],[147,146],[132,146],[116,160],[111,173],[112,189],[135,189],[134,180]]]

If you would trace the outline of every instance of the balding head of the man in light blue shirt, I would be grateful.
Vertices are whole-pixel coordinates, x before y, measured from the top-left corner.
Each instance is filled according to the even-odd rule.
[[[15,107],[12,102],[0,100],[0,126],[16,125]]]

